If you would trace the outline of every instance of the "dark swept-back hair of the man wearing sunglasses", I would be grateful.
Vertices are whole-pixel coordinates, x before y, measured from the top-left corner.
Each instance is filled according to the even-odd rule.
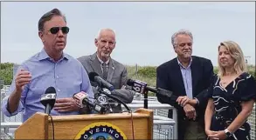
[[[44,26],[45,26],[45,22],[50,21],[52,19],[52,17],[54,16],[60,16],[63,17],[65,23],[66,23],[66,17],[64,15],[62,15],[61,11],[58,9],[53,9],[48,11],[47,13],[45,13],[38,21],[38,30],[39,31],[43,31],[44,30]]]

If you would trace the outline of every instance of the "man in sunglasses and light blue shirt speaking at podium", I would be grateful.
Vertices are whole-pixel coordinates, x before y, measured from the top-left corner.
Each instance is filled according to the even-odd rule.
[[[56,89],[56,102],[51,115],[79,114],[73,94],[81,90],[93,97],[91,83],[81,63],[63,52],[69,28],[58,9],[38,21],[38,36],[44,48],[26,60],[17,70],[2,111],[7,117],[23,111],[23,122],[36,112],[45,112],[40,98],[48,87]]]

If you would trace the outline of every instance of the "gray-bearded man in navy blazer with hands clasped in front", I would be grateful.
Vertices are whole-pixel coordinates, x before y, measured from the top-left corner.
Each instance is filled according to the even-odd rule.
[[[173,96],[156,94],[157,99],[176,108],[179,140],[205,139],[204,111],[213,76],[211,60],[191,56],[193,36],[189,30],[177,31],[171,43],[177,57],[157,67],[156,87],[172,91]]]

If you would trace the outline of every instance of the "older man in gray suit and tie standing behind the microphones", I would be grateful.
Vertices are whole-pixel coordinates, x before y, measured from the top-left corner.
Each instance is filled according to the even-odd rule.
[[[122,96],[125,96],[123,97],[127,99],[125,103],[131,103],[134,92],[123,88],[128,80],[127,69],[123,64],[110,57],[116,43],[114,30],[100,30],[98,37],[94,39],[94,43],[97,51],[93,55],[79,57],[78,60],[82,63],[87,73],[93,71],[99,74],[100,77],[111,83],[114,89],[119,90]],[[91,84],[93,87],[97,86],[92,81]],[[121,112],[120,104],[117,106],[112,105],[112,107],[114,112]]]

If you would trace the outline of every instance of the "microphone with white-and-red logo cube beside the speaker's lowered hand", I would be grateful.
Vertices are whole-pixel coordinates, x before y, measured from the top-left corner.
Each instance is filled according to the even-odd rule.
[[[80,108],[88,105],[91,109],[96,110],[100,114],[106,112],[106,108],[103,105],[99,103],[92,103],[87,97],[88,94],[84,91],[80,91],[79,93],[73,95],[73,99]]]

